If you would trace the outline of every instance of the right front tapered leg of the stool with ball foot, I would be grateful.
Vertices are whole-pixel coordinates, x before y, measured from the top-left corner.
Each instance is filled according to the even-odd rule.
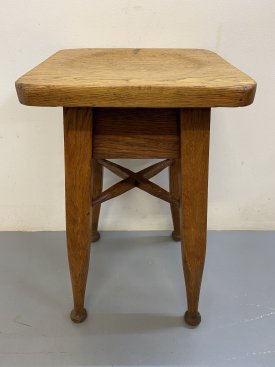
[[[196,326],[201,321],[198,304],[206,251],[210,109],[182,109],[180,125],[182,259],[188,305],[184,318]]]

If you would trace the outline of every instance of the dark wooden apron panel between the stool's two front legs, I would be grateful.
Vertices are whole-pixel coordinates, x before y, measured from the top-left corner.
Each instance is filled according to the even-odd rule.
[[[95,108],[93,156],[178,158],[179,110]]]

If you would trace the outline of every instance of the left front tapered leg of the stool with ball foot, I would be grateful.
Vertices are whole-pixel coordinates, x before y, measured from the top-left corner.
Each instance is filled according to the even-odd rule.
[[[71,319],[82,322],[90,257],[92,109],[64,108],[67,248],[73,288]]]

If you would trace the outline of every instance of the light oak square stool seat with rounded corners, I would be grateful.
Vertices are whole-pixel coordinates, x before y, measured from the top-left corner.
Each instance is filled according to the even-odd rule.
[[[256,83],[208,50],[61,50],[16,82],[32,106],[233,107]]]

